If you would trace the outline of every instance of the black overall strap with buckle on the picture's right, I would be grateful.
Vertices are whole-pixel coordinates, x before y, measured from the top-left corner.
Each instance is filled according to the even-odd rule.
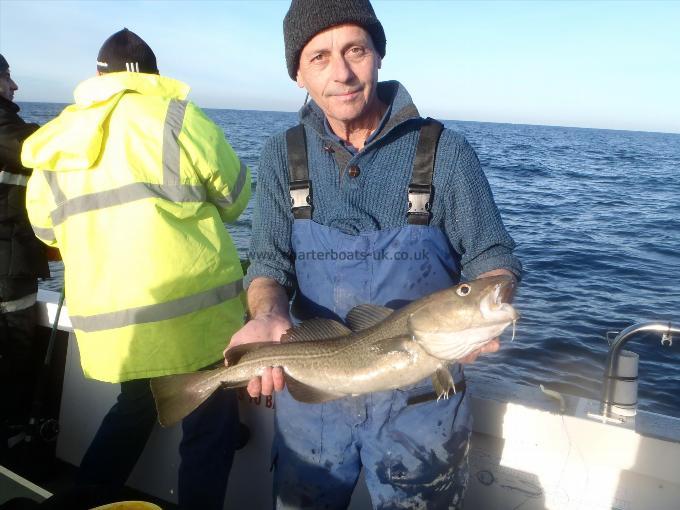
[[[434,159],[443,129],[444,126],[441,122],[429,117],[420,127],[411,183],[408,186],[408,213],[406,216],[411,225],[427,225],[430,223],[430,208],[434,192],[432,187]]]

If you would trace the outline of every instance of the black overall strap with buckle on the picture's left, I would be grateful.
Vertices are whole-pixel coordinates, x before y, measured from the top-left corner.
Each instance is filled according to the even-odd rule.
[[[295,219],[312,217],[312,183],[309,180],[307,141],[302,124],[286,131],[290,209]]]

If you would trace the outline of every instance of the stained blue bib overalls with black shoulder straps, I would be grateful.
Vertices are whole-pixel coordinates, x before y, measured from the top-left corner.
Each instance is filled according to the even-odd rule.
[[[457,258],[445,234],[429,225],[441,129],[434,121],[421,128],[408,224],[358,235],[312,221],[304,129],[289,130],[294,319],[342,321],[362,303],[396,309],[458,282]],[[323,404],[297,402],[287,391],[277,394],[272,452],[277,508],[346,508],[362,467],[375,508],[459,508],[468,478],[471,415],[462,369],[456,364],[451,371],[457,393],[439,401],[430,379]]]

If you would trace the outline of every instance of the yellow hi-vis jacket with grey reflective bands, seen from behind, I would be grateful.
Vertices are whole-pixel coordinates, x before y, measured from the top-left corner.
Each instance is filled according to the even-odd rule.
[[[24,143],[29,218],[61,251],[87,377],[205,367],[243,323],[223,221],[245,209],[250,172],[188,91],[151,74],[91,78]]]

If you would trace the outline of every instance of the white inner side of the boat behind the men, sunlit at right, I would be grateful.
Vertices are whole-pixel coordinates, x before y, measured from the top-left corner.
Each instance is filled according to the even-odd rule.
[[[42,323],[56,310],[56,293],[41,292]],[[66,307],[59,327],[70,330]],[[86,380],[70,335],[57,456],[78,465],[118,386]],[[468,510],[679,510],[680,419],[639,412],[603,423],[599,403],[500,380],[469,381],[475,428],[470,451]],[[563,407],[563,409],[560,409]],[[241,419],[251,440],[237,452],[225,508],[271,508],[269,446],[273,411],[245,397]],[[179,426],[157,427],[129,484],[176,501]],[[370,508],[363,481],[353,510]]]

